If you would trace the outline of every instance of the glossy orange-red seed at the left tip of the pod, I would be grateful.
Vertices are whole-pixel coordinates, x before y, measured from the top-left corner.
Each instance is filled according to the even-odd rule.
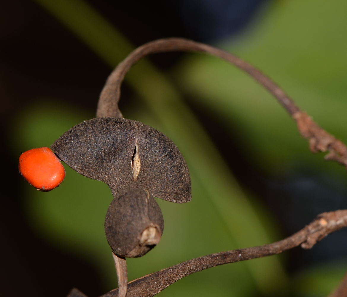
[[[37,190],[50,191],[65,178],[64,166],[50,148],[23,152],[19,157],[19,173]]]

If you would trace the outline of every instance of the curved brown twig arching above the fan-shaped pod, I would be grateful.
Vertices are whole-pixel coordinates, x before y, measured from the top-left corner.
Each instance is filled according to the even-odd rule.
[[[141,58],[159,52],[169,51],[201,51],[213,56],[220,57],[231,64],[251,75],[256,81],[261,83],[266,89],[278,99],[280,104],[296,120],[301,135],[309,139],[310,149],[312,152],[329,151],[325,156],[327,160],[336,162],[347,167],[347,147],[333,135],[323,130],[318,124],[313,122],[312,118],[302,112],[274,82],[272,82],[261,71],[248,64],[244,60],[224,50],[209,46],[204,43],[198,43],[183,38],[159,39],[144,44],[135,49],[130,55],[123,60],[116,69],[110,74],[107,82],[100,94],[97,117],[123,117],[119,108],[118,101],[120,97],[120,85],[125,74],[130,67],[137,63]]]

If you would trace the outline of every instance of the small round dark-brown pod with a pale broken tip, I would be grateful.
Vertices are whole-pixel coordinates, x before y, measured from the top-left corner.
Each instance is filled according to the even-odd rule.
[[[127,189],[108,208],[106,238],[119,257],[143,256],[159,243],[163,230],[160,207],[147,190]]]

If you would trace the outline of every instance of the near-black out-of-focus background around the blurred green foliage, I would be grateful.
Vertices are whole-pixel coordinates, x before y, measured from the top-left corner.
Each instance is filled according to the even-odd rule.
[[[242,30],[263,5],[259,0],[88,2],[136,46],[171,36],[214,42]],[[168,53],[150,59],[165,71],[181,56]],[[3,296],[65,296],[72,287],[90,297],[104,293],[94,267],[50,246],[29,228],[18,187],[22,182],[17,171],[18,161],[8,145],[8,131],[17,112],[37,98],[65,98],[76,106],[95,110],[109,73],[107,65],[37,3],[0,2],[0,284]],[[132,95],[125,84],[121,104],[132,104]],[[335,197],[329,200],[329,208],[346,208],[345,190],[311,172],[289,176],[282,182],[269,180],[248,163],[232,135],[223,142],[220,140],[219,136],[225,133],[213,114],[191,107],[221,152],[225,146],[233,148],[226,162],[243,187],[256,192],[272,207],[288,235],[327,209],[326,197]],[[303,211],[301,220],[293,222],[290,214],[304,196],[308,197],[305,206],[308,211]],[[330,242],[325,241],[313,253],[294,251],[288,270],[346,255],[347,237],[341,234],[331,236]],[[331,242],[339,248],[330,250]]]

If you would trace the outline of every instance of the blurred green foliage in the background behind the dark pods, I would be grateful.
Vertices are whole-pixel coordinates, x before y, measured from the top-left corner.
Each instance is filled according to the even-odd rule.
[[[83,1],[37,2],[110,67],[133,49]],[[217,46],[260,68],[324,129],[347,142],[346,11],[345,1],[273,1],[245,32]],[[143,60],[129,72],[126,82],[136,91],[138,104],[122,110],[124,116],[174,141],[186,158],[193,196],[183,205],[157,199],[165,222],[162,240],[144,257],[127,259],[129,280],[193,257],[262,245],[283,236],[261,201],[240,188],[182,94],[189,104],[215,114],[237,136],[251,162],[268,176],[308,166],[346,181],[344,168],[308,151],[294,121],[274,98],[218,58],[187,54],[168,74]],[[81,108],[52,99],[38,101],[22,111],[12,127],[15,151],[49,147],[70,127],[92,117]],[[37,192],[23,184],[28,220],[40,236],[98,267],[105,290],[110,290],[117,286],[117,278],[103,221],[111,192],[102,182],[65,168],[66,178],[54,191]],[[346,265],[342,264],[289,276],[285,263],[272,256],[190,275],[159,295],[325,296],[344,274]]]

